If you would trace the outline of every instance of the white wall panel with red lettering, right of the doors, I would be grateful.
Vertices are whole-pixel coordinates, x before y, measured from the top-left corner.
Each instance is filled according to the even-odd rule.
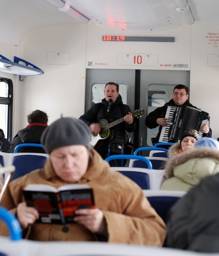
[[[208,66],[207,56],[219,54],[219,25],[193,24],[191,33],[190,102],[210,114],[212,137],[219,137],[219,67]]]

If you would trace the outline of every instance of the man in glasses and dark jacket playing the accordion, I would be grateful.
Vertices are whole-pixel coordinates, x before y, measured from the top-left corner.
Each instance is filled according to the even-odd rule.
[[[160,126],[157,137],[151,139],[153,145],[155,143],[158,143],[162,127],[167,125],[167,122],[166,122],[167,118],[165,118],[165,114],[168,106],[177,107],[179,105],[186,105],[186,106],[197,108],[188,101],[188,97],[189,97],[188,87],[185,86],[184,84],[178,84],[173,89],[173,98],[169,102],[167,102],[163,107],[156,108],[154,111],[149,113],[148,116],[146,116],[145,125],[149,129],[153,129],[153,128],[156,128],[157,126]],[[207,125],[207,123],[205,123],[200,128],[200,131],[203,132],[203,137],[212,137],[211,129],[209,128],[209,125]]]

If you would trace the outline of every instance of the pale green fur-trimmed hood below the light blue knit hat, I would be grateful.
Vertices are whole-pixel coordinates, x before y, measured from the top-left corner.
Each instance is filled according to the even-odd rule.
[[[201,178],[219,172],[219,151],[212,148],[192,149],[167,161],[166,178],[173,176],[196,185]]]

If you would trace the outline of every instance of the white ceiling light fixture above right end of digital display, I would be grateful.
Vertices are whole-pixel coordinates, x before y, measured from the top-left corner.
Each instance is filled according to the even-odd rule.
[[[191,25],[195,22],[192,12],[189,8],[188,2],[186,0],[173,0],[175,4],[176,11],[179,12],[181,20],[186,25]]]

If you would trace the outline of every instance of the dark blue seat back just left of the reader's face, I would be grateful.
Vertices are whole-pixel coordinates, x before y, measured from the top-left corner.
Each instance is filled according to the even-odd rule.
[[[11,179],[19,178],[33,170],[43,168],[47,158],[42,155],[17,155],[13,158],[12,165],[15,173]]]

